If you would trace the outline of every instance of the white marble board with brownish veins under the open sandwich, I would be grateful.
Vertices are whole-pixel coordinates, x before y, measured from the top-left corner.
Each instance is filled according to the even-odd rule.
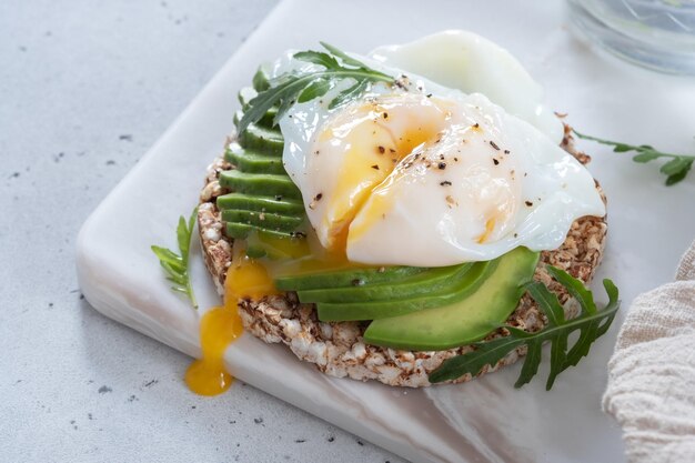
[[[204,169],[232,129],[238,89],[285,48],[325,40],[366,52],[442,29],[470,29],[515,54],[545,87],[551,108],[568,112],[585,132],[692,150],[695,82],[604,54],[572,33],[565,14],[562,1],[285,0],[85,222],[78,243],[84,295],[107,316],[199,354],[199,313],[169,291],[149,246],[174,244],[175,221],[193,208]],[[597,145],[582,148],[595,154],[590,169],[610,201],[597,281],[613,278],[627,309],[637,293],[673,276],[695,234],[695,182],[665,188],[655,167]],[[198,246],[193,253],[195,290],[201,306],[211,306],[219,300]],[[514,390],[520,364],[427,390],[336,380],[250,335],[230,346],[225,360],[239,379],[414,462],[620,462],[620,430],[601,412],[600,399],[621,320],[551,392],[542,380]]]

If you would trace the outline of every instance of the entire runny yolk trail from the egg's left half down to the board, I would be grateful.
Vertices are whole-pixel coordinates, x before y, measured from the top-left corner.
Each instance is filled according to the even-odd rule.
[[[295,240],[250,236],[289,258],[284,263],[261,263],[235,252],[225,279],[224,305],[211,309],[201,320],[202,358],[185,373],[185,382],[193,392],[216,395],[229,389],[233,378],[225,370],[224,352],[243,333],[239,300],[275,294],[271,275],[362,266],[345,256],[350,224],[399,162],[432,143],[445,129],[450,113],[432,100],[400,95],[393,101],[381,99],[379,104],[363,103],[341,112],[319,135],[318,145],[328,147],[318,151],[324,150],[326,154],[330,150],[342,151],[330,154],[340,155],[342,164],[333,193],[321,204],[328,207],[328,213],[320,230],[328,233],[324,236],[321,231],[319,236],[310,233],[309,240],[299,244]]]

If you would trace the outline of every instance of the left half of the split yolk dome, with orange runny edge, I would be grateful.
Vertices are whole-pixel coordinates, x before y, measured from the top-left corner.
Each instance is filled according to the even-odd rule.
[[[340,159],[335,187],[323,203],[321,243],[344,252],[352,220],[403,158],[435,143],[449,125],[446,102],[422,94],[367,101],[338,113],[316,137],[315,153]],[[313,208],[312,208],[313,205]]]

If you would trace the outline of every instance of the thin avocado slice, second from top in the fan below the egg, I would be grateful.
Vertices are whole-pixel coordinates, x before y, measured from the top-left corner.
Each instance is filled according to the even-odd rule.
[[[352,288],[325,288],[298,291],[300,301],[308,302],[362,302],[392,301],[411,299],[419,295],[429,295],[439,290],[452,290],[463,275],[473,266],[473,263],[427,269],[412,276],[360,284]]]

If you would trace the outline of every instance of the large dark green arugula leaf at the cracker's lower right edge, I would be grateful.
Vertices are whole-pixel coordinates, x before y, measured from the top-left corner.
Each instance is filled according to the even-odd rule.
[[[560,373],[576,365],[583,356],[587,355],[592,343],[608,330],[621,305],[617,299],[617,288],[608,279],[603,281],[608,294],[608,304],[600,311],[594,303],[592,292],[584,286],[582,281],[554,266],[548,265],[547,271],[580,303],[581,312],[576,318],[565,320],[565,312],[557,296],[545,284],[537,281],[527,283],[523,288],[528,291],[547,318],[547,325],[535,333],[514,326],[504,326],[510,332],[507,336],[477,342],[473,344],[475,351],[444,361],[439,369],[430,373],[430,382],[455,380],[466,373],[475,375],[485,365],[495,365],[516,348],[526,345],[524,364],[514,384],[514,387],[521,387],[538,371],[543,343],[550,341],[551,372],[545,383],[545,389],[550,390]],[[572,349],[568,349],[568,336],[577,330],[580,331],[578,339]]]

